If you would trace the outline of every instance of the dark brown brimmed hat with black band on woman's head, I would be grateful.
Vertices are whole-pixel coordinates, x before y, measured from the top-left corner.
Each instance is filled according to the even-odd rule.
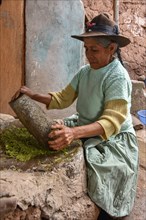
[[[107,14],[100,14],[87,22],[86,31],[80,35],[72,35],[71,37],[84,41],[87,37],[106,37],[116,42],[119,47],[125,47],[130,43],[129,38],[119,34],[117,24],[110,20]]]

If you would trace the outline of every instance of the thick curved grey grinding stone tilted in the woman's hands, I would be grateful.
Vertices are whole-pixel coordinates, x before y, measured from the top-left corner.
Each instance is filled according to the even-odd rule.
[[[48,149],[48,133],[52,122],[48,121],[41,107],[25,94],[20,94],[9,105],[27,130]]]

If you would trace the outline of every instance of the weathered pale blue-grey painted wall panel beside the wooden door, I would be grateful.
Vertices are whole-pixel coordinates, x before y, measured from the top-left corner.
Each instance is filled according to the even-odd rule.
[[[83,32],[84,7],[80,0],[26,1],[26,85],[47,93],[66,86],[84,62],[83,43],[71,38]],[[44,108],[45,109],[45,108]],[[51,118],[75,112],[51,110]]]

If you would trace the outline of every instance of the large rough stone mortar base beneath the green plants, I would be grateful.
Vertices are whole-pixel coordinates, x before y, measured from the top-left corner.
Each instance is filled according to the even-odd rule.
[[[18,119],[0,115],[3,131]],[[3,132],[1,131],[1,132]],[[80,140],[65,151],[27,162],[10,158],[0,145],[1,220],[97,220],[98,207],[87,194],[84,149]]]

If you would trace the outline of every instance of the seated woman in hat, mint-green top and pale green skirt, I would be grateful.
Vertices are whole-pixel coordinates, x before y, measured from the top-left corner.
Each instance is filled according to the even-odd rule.
[[[52,126],[49,147],[60,150],[82,139],[90,198],[110,216],[126,216],[133,207],[138,169],[130,115],[132,85],[119,53],[130,40],[119,35],[106,14],[88,23],[85,33],[72,37],[84,42],[89,64],[61,92],[35,94],[25,86],[21,92],[48,109],[66,108],[77,99],[75,117]]]

